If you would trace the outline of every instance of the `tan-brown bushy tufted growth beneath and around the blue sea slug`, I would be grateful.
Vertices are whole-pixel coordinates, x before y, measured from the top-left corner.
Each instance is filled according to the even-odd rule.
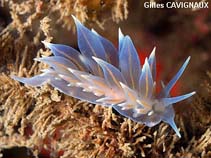
[[[58,3],[65,8],[69,2]],[[75,5],[80,1],[77,3]],[[123,20],[127,17],[124,10],[127,3],[120,3],[105,8],[111,11],[114,19],[117,16]],[[52,30],[56,26],[52,17],[66,14],[60,13],[59,5],[52,9],[53,1],[15,3],[2,0],[2,4],[3,8],[11,7],[11,22],[0,30],[1,157],[7,157],[6,150],[12,152],[14,148],[24,148],[30,154],[28,157],[211,157],[210,75],[201,86],[203,95],[198,94],[193,103],[186,105],[190,107],[191,115],[176,116],[183,137],[179,139],[164,123],[149,128],[120,116],[111,108],[82,102],[48,85],[32,88],[11,79],[10,74],[30,77],[46,67],[33,58],[51,54],[42,48],[40,41],[53,40]],[[84,4],[78,9],[88,7]],[[34,5],[35,10],[32,9]],[[115,7],[120,8],[118,14]],[[71,9],[67,12],[77,16]],[[97,21],[95,19],[100,18],[101,13],[99,17],[96,15],[90,13],[78,18]],[[98,20],[101,23],[101,19]],[[68,16],[58,19],[59,22],[66,29],[73,24]],[[33,27],[35,25],[37,28]]]

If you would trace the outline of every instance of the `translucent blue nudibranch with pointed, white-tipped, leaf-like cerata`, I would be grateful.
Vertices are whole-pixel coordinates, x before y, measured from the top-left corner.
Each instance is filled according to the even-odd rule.
[[[83,26],[74,16],[73,19],[80,52],[66,45],[43,41],[53,56],[35,60],[48,64],[49,68],[31,78],[12,78],[30,86],[48,83],[66,95],[112,107],[121,115],[149,127],[164,121],[181,137],[174,122],[172,104],[191,97],[195,92],[171,97],[170,91],[190,57],[167,85],[162,84],[162,90],[157,93],[155,48],[141,66],[132,40],[128,35],[123,35],[120,29],[116,49],[109,40]]]

